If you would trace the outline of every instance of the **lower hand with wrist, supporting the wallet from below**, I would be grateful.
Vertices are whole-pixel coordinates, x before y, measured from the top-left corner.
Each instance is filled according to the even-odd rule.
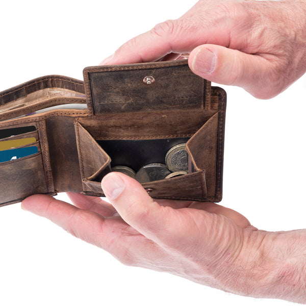
[[[305,274],[304,231],[258,231],[239,213],[211,202],[154,201],[122,173],[105,176],[102,188],[111,203],[69,193],[73,206],[33,195],[22,201],[22,208],[126,265],[237,294],[306,301],[298,278]]]

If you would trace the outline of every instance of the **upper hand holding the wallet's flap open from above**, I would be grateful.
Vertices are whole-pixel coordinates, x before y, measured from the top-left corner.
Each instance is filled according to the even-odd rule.
[[[284,91],[306,71],[306,2],[200,0],[176,20],[159,23],[101,64],[189,55],[200,77],[244,88],[258,98]]]

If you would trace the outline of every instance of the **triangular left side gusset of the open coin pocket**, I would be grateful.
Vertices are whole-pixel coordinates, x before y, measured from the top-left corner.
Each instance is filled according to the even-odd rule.
[[[75,123],[75,134],[82,180],[100,181],[104,175],[111,171],[110,157],[78,122]]]

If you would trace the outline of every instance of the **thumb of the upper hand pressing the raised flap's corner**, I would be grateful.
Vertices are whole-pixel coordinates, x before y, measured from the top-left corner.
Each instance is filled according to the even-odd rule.
[[[279,93],[273,62],[219,45],[205,44],[192,50],[190,69],[209,81],[244,88],[257,98],[271,98]]]

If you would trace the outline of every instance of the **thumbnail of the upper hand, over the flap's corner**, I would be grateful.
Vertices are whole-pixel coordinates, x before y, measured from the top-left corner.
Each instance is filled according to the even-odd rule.
[[[202,47],[193,57],[192,69],[198,73],[212,73],[215,69],[216,56],[211,50]]]

